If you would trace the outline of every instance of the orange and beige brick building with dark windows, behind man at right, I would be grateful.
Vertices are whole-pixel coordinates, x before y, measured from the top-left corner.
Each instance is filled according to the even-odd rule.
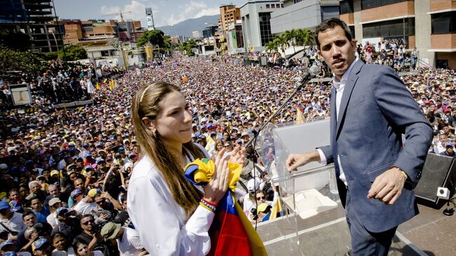
[[[397,39],[416,47],[423,65],[456,69],[454,0],[344,0],[340,18],[359,42]]]

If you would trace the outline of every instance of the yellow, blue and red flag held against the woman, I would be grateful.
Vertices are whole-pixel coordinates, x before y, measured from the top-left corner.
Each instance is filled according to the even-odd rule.
[[[229,189],[236,189],[242,167],[228,163]],[[215,172],[215,163],[209,159],[196,159],[185,166],[185,177],[189,182],[203,185],[210,182]],[[208,255],[267,255],[266,249],[252,224],[234,199],[232,192],[219,202],[215,218],[209,229],[211,248]]]

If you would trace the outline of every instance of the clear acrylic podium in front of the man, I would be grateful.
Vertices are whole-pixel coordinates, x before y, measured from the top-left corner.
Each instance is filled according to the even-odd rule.
[[[255,149],[267,166],[274,184],[280,187],[284,215],[257,224],[269,255],[349,255],[351,238],[345,210],[338,194],[330,189],[333,165],[309,163],[295,172],[286,170],[291,153],[302,153],[330,144],[329,120],[281,123],[269,126],[259,136]],[[333,193],[331,193],[333,191]],[[400,234],[391,244],[405,255],[421,255]]]

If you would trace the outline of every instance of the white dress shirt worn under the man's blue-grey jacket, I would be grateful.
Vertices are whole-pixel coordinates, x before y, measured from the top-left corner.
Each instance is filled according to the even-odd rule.
[[[359,58],[356,57],[356,59],[353,62],[351,62],[350,67],[342,75],[342,78],[340,79],[340,81],[337,81],[337,78],[335,76],[333,77],[333,86],[335,87],[335,90],[336,90],[336,97],[335,97],[335,114],[336,114],[335,119],[336,120],[339,119],[340,101],[342,100],[342,95],[344,94],[345,84],[347,83],[351,69],[353,68],[355,62],[357,62],[358,60],[359,60]],[[325,154],[323,154],[323,151],[321,151],[321,149],[317,149],[317,151],[318,151],[318,154],[320,155],[320,163],[328,164],[328,161],[326,159]],[[339,178],[340,178],[340,180],[342,180],[342,182],[344,182],[345,185],[347,185],[347,178],[345,177],[344,169],[342,168],[342,164],[340,163],[339,155],[337,155],[337,162],[339,163],[339,170],[340,170]]]

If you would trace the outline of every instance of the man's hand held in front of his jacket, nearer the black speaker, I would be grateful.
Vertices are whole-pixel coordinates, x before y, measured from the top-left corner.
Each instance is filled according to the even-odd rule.
[[[401,170],[393,167],[375,178],[370,186],[368,198],[392,205],[401,196],[404,183],[405,176]]]

